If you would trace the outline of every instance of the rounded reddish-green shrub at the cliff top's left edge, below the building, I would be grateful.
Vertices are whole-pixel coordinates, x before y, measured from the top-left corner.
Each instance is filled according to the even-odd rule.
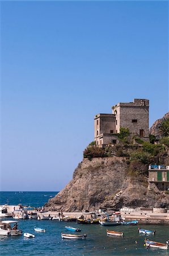
[[[103,158],[105,155],[104,148],[98,146],[87,147],[83,151],[83,158]]]

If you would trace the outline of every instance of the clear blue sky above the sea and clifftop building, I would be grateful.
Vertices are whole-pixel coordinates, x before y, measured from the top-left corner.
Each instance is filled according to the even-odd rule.
[[[117,102],[168,112],[167,2],[1,2],[1,31],[1,190],[60,191]]]

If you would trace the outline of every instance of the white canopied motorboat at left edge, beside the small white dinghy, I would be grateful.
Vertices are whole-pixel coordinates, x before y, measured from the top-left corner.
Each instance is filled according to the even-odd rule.
[[[0,236],[19,236],[22,230],[18,229],[18,221],[1,221],[0,222]],[[11,227],[11,224],[15,224]]]

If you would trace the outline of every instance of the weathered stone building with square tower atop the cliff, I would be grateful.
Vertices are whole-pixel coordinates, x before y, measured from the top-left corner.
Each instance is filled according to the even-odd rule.
[[[96,144],[117,143],[115,134],[120,132],[120,127],[129,128],[131,136],[149,141],[149,100],[120,102],[112,107],[112,114],[95,115]]]

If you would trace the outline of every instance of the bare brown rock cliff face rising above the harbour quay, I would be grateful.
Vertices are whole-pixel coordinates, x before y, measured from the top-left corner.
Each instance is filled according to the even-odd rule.
[[[153,188],[154,207],[169,206],[169,196]],[[147,179],[129,176],[125,158],[83,159],[73,179],[45,204],[47,210],[78,212],[121,207],[150,207],[152,192]]]

